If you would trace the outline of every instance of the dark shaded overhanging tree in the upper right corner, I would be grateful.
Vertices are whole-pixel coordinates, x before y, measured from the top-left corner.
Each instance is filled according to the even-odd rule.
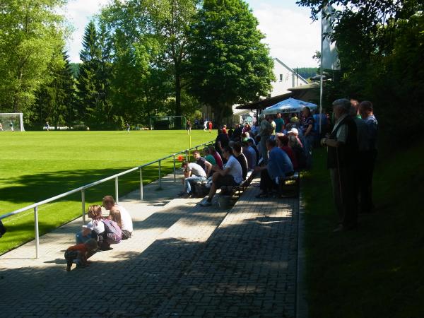
[[[326,1],[341,10],[334,18],[334,33],[341,77],[331,83],[333,98],[351,96],[371,100],[376,109],[381,137],[414,141],[424,120],[420,101],[424,94],[423,1]],[[322,1],[300,0],[309,6],[312,17]],[[326,88],[324,87],[324,90]],[[399,133],[399,123],[408,123],[407,136]]]

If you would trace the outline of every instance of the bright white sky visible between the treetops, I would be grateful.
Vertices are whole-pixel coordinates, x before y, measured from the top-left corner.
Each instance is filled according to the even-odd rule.
[[[72,25],[73,33],[66,49],[72,62],[80,61],[84,28],[108,2],[109,0],[69,0],[65,14]],[[266,35],[263,42],[269,45],[272,57],[293,68],[318,66],[312,56],[320,48],[320,23],[312,23],[308,8],[298,7],[295,0],[246,2],[259,20],[259,30]]]

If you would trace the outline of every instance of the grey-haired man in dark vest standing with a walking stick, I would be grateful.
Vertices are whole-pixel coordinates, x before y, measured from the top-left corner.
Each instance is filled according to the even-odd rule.
[[[340,224],[334,230],[351,230],[358,222],[358,199],[356,198],[355,165],[358,160],[356,125],[349,112],[351,101],[342,98],[333,102],[336,122],[329,138],[321,144],[328,147],[327,167],[330,170],[334,203]]]

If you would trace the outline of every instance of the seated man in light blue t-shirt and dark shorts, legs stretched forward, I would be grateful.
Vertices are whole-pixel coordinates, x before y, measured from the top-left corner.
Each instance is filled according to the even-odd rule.
[[[208,199],[201,202],[201,206],[211,206],[213,196],[216,194],[216,190],[223,186],[237,186],[243,182],[242,166],[238,160],[232,155],[232,149],[225,147],[223,149],[223,155],[228,160],[225,164],[225,169],[222,170],[218,165],[213,167],[216,173],[212,176],[211,190],[208,194]]]

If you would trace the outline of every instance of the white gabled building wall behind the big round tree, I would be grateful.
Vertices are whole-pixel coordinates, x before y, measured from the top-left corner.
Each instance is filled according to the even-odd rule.
[[[307,84],[305,78],[302,78],[295,70],[290,69],[282,61],[277,58],[273,59],[273,73],[276,81],[271,82],[272,91],[269,97],[290,93],[288,88],[298,87]]]

